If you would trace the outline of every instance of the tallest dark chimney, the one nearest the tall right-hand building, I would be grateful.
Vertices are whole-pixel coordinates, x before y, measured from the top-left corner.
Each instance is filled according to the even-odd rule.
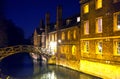
[[[62,7],[57,7],[56,29],[59,30],[62,25]]]

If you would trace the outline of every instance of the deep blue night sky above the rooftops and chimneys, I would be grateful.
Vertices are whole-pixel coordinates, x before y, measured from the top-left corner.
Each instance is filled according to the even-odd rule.
[[[56,20],[56,8],[61,5],[63,18],[80,13],[79,0],[5,0],[4,13],[29,37],[39,26],[40,20],[45,21],[45,14],[50,13],[51,22]]]

